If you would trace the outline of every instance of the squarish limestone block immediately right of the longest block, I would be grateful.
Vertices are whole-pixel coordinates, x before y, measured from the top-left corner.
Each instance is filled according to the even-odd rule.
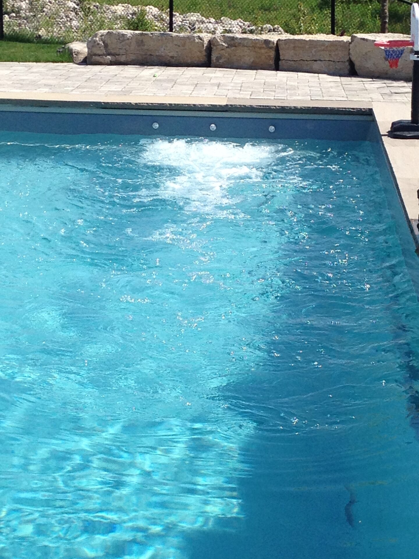
[[[275,70],[279,35],[214,35],[211,38],[211,66],[246,70]]]

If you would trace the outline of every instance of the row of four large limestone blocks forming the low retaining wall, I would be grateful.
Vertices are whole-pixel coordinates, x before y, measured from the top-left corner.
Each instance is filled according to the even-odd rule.
[[[407,35],[240,35],[98,31],[87,42],[88,64],[211,66],[411,79],[411,48],[389,68],[375,40]],[[79,57],[80,58],[80,57]]]

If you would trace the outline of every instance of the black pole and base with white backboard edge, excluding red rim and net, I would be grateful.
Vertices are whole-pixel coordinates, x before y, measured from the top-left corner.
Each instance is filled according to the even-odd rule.
[[[416,3],[412,4],[411,35],[414,49],[410,55],[413,60],[411,119],[392,122],[389,132],[392,138],[419,139],[419,6]]]

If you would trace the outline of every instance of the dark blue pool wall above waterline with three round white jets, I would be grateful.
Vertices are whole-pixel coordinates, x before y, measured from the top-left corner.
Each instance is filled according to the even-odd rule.
[[[154,123],[158,127],[153,127]],[[211,125],[215,125],[215,129]],[[231,112],[226,115],[216,111],[54,111],[48,108],[3,106],[0,111],[0,130],[71,135],[140,134],[356,141],[373,140],[374,122],[370,115],[356,114],[310,116],[255,112],[243,115]]]

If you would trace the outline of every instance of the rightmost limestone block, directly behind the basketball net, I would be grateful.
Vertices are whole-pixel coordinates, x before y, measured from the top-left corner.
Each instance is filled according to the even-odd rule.
[[[410,60],[412,49],[404,49],[398,68],[390,68],[385,60],[384,50],[374,46],[374,41],[394,39],[410,40],[410,36],[398,33],[356,34],[351,37],[350,57],[356,73],[363,78],[412,79],[413,62]]]

